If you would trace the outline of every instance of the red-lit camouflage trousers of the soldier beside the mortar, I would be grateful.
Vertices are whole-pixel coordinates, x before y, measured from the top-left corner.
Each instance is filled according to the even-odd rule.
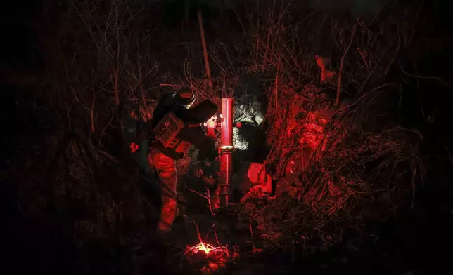
[[[158,221],[158,230],[170,231],[175,217],[177,216],[177,185],[181,177],[186,174],[186,159],[175,161],[162,154],[156,149],[151,149],[148,154],[148,163],[155,168],[160,185],[162,196],[162,208]]]

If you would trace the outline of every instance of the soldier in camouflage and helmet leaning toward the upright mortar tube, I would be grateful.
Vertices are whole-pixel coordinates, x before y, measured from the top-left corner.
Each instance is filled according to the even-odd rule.
[[[151,119],[131,144],[132,152],[148,140],[148,164],[155,170],[161,185],[162,208],[158,232],[169,232],[177,216],[177,182],[186,170],[186,153],[191,145],[200,149],[201,156],[215,158],[215,140],[204,134],[201,123],[217,112],[217,106],[205,100],[191,109],[195,95],[191,90],[179,90],[162,96]]]

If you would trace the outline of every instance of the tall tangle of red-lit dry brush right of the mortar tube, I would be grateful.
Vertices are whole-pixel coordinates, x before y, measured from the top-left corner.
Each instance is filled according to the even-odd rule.
[[[267,166],[277,185],[291,185],[286,197],[247,196],[241,206],[240,220],[256,225],[266,248],[314,236],[324,244],[340,241],[345,229],[362,228],[410,206],[423,174],[421,137],[388,113],[385,102],[390,93],[398,93],[398,85],[384,82],[395,58],[404,56],[414,39],[407,36],[417,24],[409,14],[419,16],[419,6],[407,7],[404,15],[387,8],[371,22],[307,11],[302,21],[289,22],[283,18],[295,18],[291,13],[299,11],[283,3],[292,5],[282,1],[250,20],[253,70],[274,73],[274,85],[267,90]],[[315,53],[336,60],[331,69],[342,74],[340,88],[338,77],[314,85]],[[311,114],[324,114],[327,121],[318,123],[317,147],[300,142],[310,131]],[[285,183],[281,177],[295,154],[302,154],[306,164],[293,182]]]

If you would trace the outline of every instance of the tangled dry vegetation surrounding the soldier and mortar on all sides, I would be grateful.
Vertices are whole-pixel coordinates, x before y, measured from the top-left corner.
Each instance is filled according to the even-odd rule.
[[[237,224],[230,228],[231,220],[212,216],[207,185],[183,188],[186,200],[196,201],[184,206],[185,226],[195,221],[210,232],[217,221],[220,242],[233,243],[236,252],[243,246],[242,257],[291,250],[295,242],[328,248],[347,230],[361,232],[411,206],[423,176],[421,136],[400,123],[397,99],[415,77],[414,64],[442,47],[423,1],[390,1],[360,13],[346,6],[324,10],[310,1],[230,1],[224,8],[152,2],[49,1],[38,25],[46,69],[29,108],[44,114],[39,125],[46,132],[22,152],[27,161],[4,178],[21,183],[15,196],[27,222],[42,227],[42,234],[71,236],[68,246],[81,262],[70,265],[73,272],[198,270],[175,267],[184,245],[149,244],[156,192],[140,180],[122,132],[128,106],[152,105],[169,88],[190,87],[198,100],[217,103],[234,96],[242,108],[263,113],[262,122],[248,121],[265,137],[261,143],[262,136],[248,137],[248,153],[266,164],[285,192],[246,194],[231,208],[228,217]],[[433,36],[438,40],[428,39]],[[336,77],[320,83],[316,55],[331,60]],[[310,114],[321,109],[331,110],[321,141],[302,148]],[[288,180],[288,161],[301,158],[305,164]],[[197,203],[203,210],[191,215]],[[44,226],[49,223],[53,229]],[[241,237],[229,237],[232,232]],[[197,241],[187,234],[187,242]]]

